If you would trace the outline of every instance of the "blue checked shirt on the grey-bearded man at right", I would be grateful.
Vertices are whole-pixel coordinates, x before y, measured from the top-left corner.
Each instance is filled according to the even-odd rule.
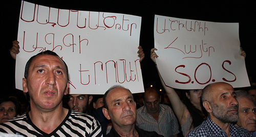
[[[196,127],[194,130],[191,130],[187,137],[194,136],[227,136],[226,132],[222,130],[216,123],[212,122],[207,118],[201,125]],[[242,127],[234,126],[230,124],[230,136],[252,136],[246,129]]]

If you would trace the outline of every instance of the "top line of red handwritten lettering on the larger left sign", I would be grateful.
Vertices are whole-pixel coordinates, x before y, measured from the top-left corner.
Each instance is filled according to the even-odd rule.
[[[115,29],[118,31],[127,32],[128,35],[132,36],[133,30],[137,29],[137,24],[135,22],[130,21],[128,16],[122,15],[122,18],[117,16],[106,16],[103,12],[88,12],[89,14],[85,14],[84,16],[80,16],[82,12],[86,11],[78,11],[78,10],[61,10],[57,9],[57,12],[53,12],[54,8],[44,7],[40,5],[34,5],[34,9],[30,9],[30,12],[33,14],[24,15],[24,9],[26,5],[24,5],[24,1],[22,3],[22,9],[20,14],[20,19],[22,21],[33,23],[36,22],[45,26],[52,26],[52,28],[56,28],[57,26],[60,28],[67,28],[72,24],[76,24],[78,29],[90,29],[90,30],[99,30],[102,31],[106,29]],[[46,10],[48,8],[48,10]],[[64,15],[62,15],[64,14]],[[71,19],[71,16],[76,16],[76,19]],[[61,22],[62,21],[62,22]],[[74,21],[73,23],[71,23]]]

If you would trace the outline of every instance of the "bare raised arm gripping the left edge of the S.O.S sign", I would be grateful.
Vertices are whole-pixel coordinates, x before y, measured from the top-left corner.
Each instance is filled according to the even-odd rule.
[[[152,48],[151,49],[151,59],[155,62],[156,64],[156,58],[158,58],[155,50],[157,50],[156,48]],[[157,66],[156,66],[157,67]],[[158,71],[158,68],[157,68]],[[183,125],[187,119],[187,115],[188,115],[188,109],[186,107],[186,105],[180,100],[178,94],[176,93],[176,91],[173,88],[167,87],[164,82],[163,79],[158,71],[161,83],[163,85],[163,88],[170,100],[170,103],[172,103],[173,106],[173,111],[176,114],[177,119],[180,122],[180,125]]]

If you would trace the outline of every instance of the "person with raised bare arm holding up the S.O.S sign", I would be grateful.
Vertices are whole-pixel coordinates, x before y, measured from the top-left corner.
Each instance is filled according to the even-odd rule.
[[[155,50],[156,48],[151,49],[151,59],[156,64],[156,59],[158,58]],[[245,52],[241,52],[241,56],[244,56],[245,58]],[[159,73],[159,72],[158,72]],[[205,109],[202,106],[201,103],[201,93],[202,90],[186,90],[183,92],[184,97],[184,103],[180,100],[178,94],[173,88],[167,87],[162,77],[159,74],[159,77],[161,79],[161,83],[164,87],[165,92],[167,93],[167,96],[172,104],[173,111],[177,116],[177,119],[180,122],[181,130],[184,136],[186,134],[194,129],[194,127],[199,126],[207,116],[207,113]]]

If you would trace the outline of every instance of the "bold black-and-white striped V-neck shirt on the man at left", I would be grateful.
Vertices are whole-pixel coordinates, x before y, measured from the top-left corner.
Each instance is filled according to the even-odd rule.
[[[100,124],[94,117],[70,110],[62,123],[50,134],[36,127],[28,113],[0,124],[0,132],[23,136],[102,136]]]

